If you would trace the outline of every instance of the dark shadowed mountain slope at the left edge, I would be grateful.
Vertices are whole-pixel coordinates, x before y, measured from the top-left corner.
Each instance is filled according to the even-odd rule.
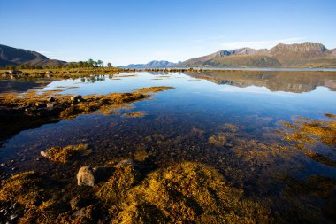
[[[12,48],[0,44],[0,67],[23,64],[57,66],[64,65],[66,62],[47,58],[36,51]]]

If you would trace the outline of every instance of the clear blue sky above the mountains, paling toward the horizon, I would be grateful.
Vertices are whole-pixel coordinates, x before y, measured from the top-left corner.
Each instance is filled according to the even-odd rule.
[[[279,42],[336,48],[335,27],[334,0],[0,0],[0,44],[114,66]]]

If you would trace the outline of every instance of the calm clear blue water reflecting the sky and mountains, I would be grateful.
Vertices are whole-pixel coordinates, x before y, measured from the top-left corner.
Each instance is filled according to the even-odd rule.
[[[2,85],[4,82],[0,82]],[[15,85],[10,86],[15,90]],[[336,177],[336,169],[331,166],[306,158],[302,152],[273,150],[272,146],[279,143],[275,132],[280,127],[279,120],[290,121],[297,116],[325,119],[325,113],[336,114],[336,73],[121,73],[113,77],[46,81],[44,87],[37,89],[90,95],[152,86],[175,89],[134,103],[133,108],[119,114],[95,112],[21,131],[4,143],[0,161],[14,160],[5,167],[9,172],[13,172],[11,168],[15,168],[14,172],[38,169],[72,177],[80,166],[125,158],[145,149],[157,166],[201,161],[218,168],[233,185],[257,195],[275,188],[265,181],[275,174]],[[147,115],[121,116],[133,111]],[[227,124],[238,130],[227,129]],[[210,137],[220,133],[233,135],[227,137],[225,145],[210,143]],[[71,165],[36,160],[40,151],[48,147],[76,143],[88,143],[94,153]],[[336,158],[331,149],[316,150]]]

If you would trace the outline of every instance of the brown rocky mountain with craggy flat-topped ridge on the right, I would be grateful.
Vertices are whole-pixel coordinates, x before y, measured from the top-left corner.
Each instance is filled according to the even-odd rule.
[[[241,48],[220,50],[191,58],[179,67],[336,67],[336,49],[328,50],[321,43],[279,43],[270,50]]]

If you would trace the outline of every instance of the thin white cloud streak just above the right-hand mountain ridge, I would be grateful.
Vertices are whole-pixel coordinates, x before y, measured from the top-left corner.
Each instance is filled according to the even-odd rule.
[[[220,45],[227,50],[238,49],[238,48],[254,48],[254,49],[263,49],[263,48],[272,48],[278,43],[297,43],[305,40],[306,37],[291,37],[280,40],[271,40],[271,41],[260,41],[260,42],[225,42]]]

